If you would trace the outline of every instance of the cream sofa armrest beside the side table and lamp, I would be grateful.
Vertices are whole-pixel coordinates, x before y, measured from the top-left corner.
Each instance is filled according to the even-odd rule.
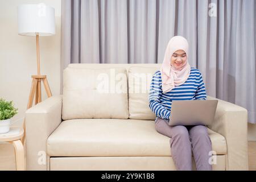
[[[26,111],[27,170],[47,170],[46,141],[61,122],[62,96],[52,96]]]

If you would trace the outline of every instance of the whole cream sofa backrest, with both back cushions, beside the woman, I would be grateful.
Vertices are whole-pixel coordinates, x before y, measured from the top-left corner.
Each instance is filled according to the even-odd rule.
[[[161,64],[69,64],[63,73],[63,119],[154,120],[152,75]]]

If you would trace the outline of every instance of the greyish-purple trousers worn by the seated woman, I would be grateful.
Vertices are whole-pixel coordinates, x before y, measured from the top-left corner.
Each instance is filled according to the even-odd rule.
[[[198,171],[212,170],[212,165],[209,164],[212,142],[207,127],[169,126],[164,119],[156,118],[155,129],[158,133],[170,137],[172,159],[177,170],[192,170],[192,152]]]

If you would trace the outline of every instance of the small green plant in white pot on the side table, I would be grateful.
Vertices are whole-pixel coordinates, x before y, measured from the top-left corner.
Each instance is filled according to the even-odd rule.
[[[0,99],[0,134],[10,131],[11,118],[18,113],[13,101]]]

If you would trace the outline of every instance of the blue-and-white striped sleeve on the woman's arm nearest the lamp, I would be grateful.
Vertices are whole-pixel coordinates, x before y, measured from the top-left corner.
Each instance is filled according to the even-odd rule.
[[[162,119],[169,119],[171,111],[160,103],[160,96],[162,95],[162,88],[160,88],[160,82],[162,80],[158,72],[154,74],[150,84],[150,93],[148,96],[149,107],[155,113],[156,117]]]

